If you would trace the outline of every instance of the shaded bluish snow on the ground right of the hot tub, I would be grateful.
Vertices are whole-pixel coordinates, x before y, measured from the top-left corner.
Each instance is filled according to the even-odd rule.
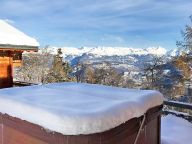
[[[161,144],[192,144],[192,123],[173,115],[162,117]]]

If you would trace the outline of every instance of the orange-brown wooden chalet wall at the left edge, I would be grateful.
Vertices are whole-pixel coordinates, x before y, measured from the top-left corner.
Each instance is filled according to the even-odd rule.
[[[0,50],[0,88],[13,86],[13,52]]]

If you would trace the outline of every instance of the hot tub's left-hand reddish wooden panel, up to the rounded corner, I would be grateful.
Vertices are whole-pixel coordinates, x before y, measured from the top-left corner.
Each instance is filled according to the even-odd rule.
[[[17,144],[65,144],[67,143],[67,136],[59,133],[47,132],[41,126],[11,117],[7,114],[0,114],[0,124],[3,125],[2,144],[15,144],[14,140],[17,137],[25,139],[19,141]],[[7,142],[7,139],[12,139]],[[35,143],[31,143],[35,141]],[[1,144],[1,143],[0,143]]]

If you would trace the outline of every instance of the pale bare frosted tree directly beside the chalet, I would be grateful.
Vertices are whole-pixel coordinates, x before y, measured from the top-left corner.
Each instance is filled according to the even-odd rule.
[[[30,83],[45,83],[52,59],[53,55],[47,47],[42,48],[38,53],[24,53],[22,66],[15,69],[16,80]]]

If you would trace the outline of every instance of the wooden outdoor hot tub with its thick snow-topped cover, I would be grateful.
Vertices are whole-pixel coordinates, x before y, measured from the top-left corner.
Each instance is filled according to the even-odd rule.
[[[161,93],[85,83],[0,90],[0,144],[160,144]]]

